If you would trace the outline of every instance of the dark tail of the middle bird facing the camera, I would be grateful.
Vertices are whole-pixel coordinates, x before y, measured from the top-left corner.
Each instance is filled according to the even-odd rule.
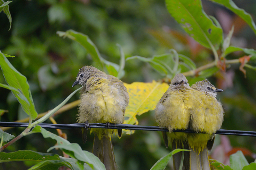
[[[189,146],[187,144],[186,141],[183,142],[172,142],[172,149],[189,149]],[[184,154],[184,158],[182,158],[182,154]],[[182,170],[189,170],[189,152],[187,151],[182,151],[182,152],[178,152],[175,153],[174,155],[172,155],[172,159],[173,159],[173,166],[175,170],[178,170],[179,167],[181,166],[181,162],[183,160],[183,164],[182,164]]]

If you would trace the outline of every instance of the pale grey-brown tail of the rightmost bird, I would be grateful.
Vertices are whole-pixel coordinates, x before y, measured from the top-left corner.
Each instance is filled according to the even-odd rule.
[[[190,170],[211,170],[207,147],[205,147],[200,153],[198,153],[198,150],[196,149],[191,149]]]

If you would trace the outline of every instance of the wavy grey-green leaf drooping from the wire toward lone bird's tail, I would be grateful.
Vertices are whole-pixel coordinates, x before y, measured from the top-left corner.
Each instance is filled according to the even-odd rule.
[[[104,164],[96,157],[93,153],[83,151],[82,148],[76,143],[70,143],[68,140],[61,138],[44,128],[41,128],[41,133],[44,138],[52,138],[57,141],[58,145],[55,145],[48,149],[48,151],[53,148],[60,148],[63,152],[67,153],[71,158],[76,158],[79,161],[87,163],[92,169],[102,170],[105,169]],[[47,152],[48,152],[47,151]]]

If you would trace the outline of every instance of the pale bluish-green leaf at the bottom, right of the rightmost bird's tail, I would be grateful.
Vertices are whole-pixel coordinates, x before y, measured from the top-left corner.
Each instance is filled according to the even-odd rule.
[[[230,167],[234,170],[241,170],[244,166],[249,165],[242,151],[237,151],[236,153],[230,155],[229,161]]]

